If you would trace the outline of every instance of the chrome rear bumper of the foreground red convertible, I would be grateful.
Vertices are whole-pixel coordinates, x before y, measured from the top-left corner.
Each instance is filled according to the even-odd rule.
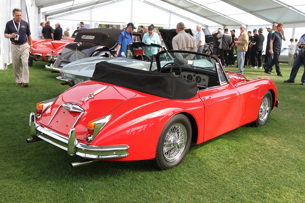
[[[94,146],[83,144],[76,139],[75,129],[71,128],[69,137],[60,135],[36,123],[35,114],[30,114],[30,136],[27,142],[45,140],[68,152],[70,156],[81,156],[86,159],[115,159],[128,156],[128,145]]]

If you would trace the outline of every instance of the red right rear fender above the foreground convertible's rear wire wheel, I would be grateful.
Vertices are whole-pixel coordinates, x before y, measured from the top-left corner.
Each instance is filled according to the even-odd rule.
[[[112,118],[90,144],[128,145],[129,155],[115,159],[116,161],[152,159],[156,154],[161,131],[172,116],[179,113],[192,116],[194,118],[192,120],[196,121],[195,128],[200,127],[198,123],[203,123],[203,102],[198,95],[188,100],[162,98],[151,103],[141,100],[143,100],[142,96],[137,95],[109,112],[113,114]],[[126,112],[126,109],[132,110]]]

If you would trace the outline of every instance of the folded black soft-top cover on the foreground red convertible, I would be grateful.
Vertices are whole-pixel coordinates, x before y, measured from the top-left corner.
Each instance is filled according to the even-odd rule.
[[[149,72],[106,61],[95,65],[91,80],[133,89],[167,99],[189,99],[198,91],[195,81],[187,81],[169,73]]]

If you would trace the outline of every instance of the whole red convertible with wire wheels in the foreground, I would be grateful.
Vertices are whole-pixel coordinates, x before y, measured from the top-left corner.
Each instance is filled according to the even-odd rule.
[[[207,54],[168,50],[135,64],[101,61],[90,80],[38,103],[27,142],[45,140],[85,158],[72,167],[149,159],[167,170],[183,161],[191,141],[264,125],[278,106],[271,79],[225,71]]]

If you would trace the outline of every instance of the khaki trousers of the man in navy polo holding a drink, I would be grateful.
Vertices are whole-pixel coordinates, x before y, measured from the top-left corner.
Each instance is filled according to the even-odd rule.
[[[13,61],[13,71],[16,83],[25,82],[29,83],[29,48],[28,43],[22,45],[11,44],[11,54]],[[21,67],[21,61],[22,66]]]

